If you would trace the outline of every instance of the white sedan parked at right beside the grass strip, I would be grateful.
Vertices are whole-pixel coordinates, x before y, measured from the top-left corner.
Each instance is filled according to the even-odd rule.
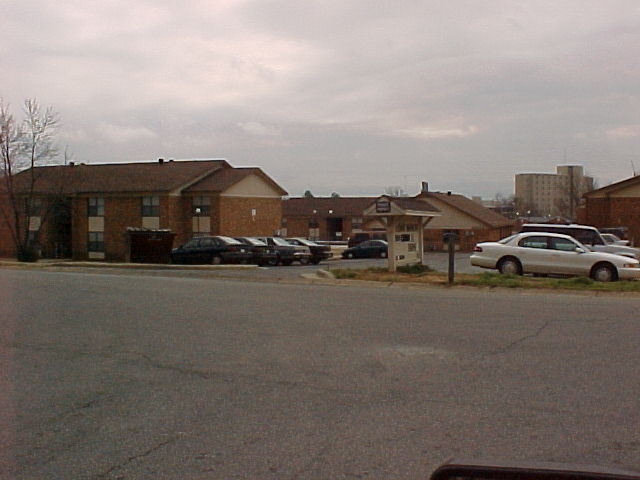
[[[638,260],[591,251],[573,237],[559,233],[518,233],[498,242],[478,243],[471,265],[503,274],[586,276],[598,282],[640,278]]]

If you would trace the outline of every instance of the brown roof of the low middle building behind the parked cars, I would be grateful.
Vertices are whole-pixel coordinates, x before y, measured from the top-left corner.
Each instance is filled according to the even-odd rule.
[[[334,217],[361,217],[376,197],[299,197],[282,202],[283,217],[304,217],[316,214]],[[315,210],[315,212],[314,212]]]

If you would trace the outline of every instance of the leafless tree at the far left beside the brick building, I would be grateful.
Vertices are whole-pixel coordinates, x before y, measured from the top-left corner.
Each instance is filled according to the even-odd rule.
[[[9,106],[0,100],[0,175],[4,197],[0,202],[0,214],[11,232],[18,260],[21,261],[35,259],[31,218],[36,213],[40,214],[42,208],[40,199],[35,195],[38,180],[35,167],[57,156],[55,133],[58,123],[58,114],[53,108],[43,110],[35,99],[25,100],[24,119],[20,122]],[[22,171],[20,181],[16,182],[16,175]]]

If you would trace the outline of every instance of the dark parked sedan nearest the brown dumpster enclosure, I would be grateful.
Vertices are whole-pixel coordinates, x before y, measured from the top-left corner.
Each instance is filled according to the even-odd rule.
[[[171,262],[182,264],[219,265],[221,263],[249,263],[252,253],[235,238],[221,235],[193,237],[184,245],[171,250]]]

